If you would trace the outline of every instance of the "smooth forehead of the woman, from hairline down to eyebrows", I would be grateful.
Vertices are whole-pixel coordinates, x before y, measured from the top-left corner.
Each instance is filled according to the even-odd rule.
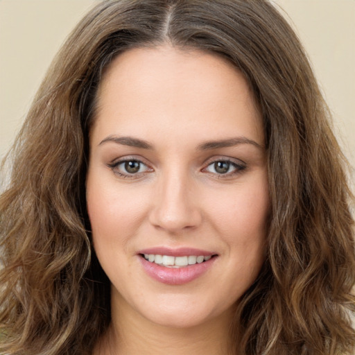
[[[98,90],[94,130],[100,135],[134,129],[180,137],[194,131],[201,139],[214,132],[221,139],[234,128],[263,144],[248,83],[230,62],[211,53],[167,45],[131,49],[110,64]]]

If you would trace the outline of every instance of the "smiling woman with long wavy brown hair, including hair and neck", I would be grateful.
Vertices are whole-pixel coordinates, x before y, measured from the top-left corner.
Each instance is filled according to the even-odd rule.
[[[268,1],[105,1],[1,196],[6,354],[352,354],[351,193]]]

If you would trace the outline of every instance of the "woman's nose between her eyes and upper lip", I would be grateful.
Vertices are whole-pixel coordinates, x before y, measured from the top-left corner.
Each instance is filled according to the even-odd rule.
[[[150,223],[176,234],[198,227],[202,221],[198,194],[187,175],[167,173],[157,182]]]

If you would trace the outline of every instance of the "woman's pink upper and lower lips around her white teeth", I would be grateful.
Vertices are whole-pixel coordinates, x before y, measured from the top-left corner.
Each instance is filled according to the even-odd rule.
[[[171,257],[182,257],[189,255],[203,255],[205,257],[209,255],[214,255],[216,253],[207,252],[206,250],[197,250],[191,248],[179,248],[175,250],[167,248],[151,248],[141,250],[139,252],[139,261],[141,266],[144,268],[144,271],[153,279],[163,284],[168,285],[182,285],[187,284],[188,282],[197,279],[205,272],[207,272],[216,261],[216,257],[204,261],[203,263],[196,263],[189,266],[184,266],[182,268],[167,268],[165,266],[157,265],[156,263],[150,263],[150,261],[144,259],[140,254],[159,254],[159,255],[168,255]]]

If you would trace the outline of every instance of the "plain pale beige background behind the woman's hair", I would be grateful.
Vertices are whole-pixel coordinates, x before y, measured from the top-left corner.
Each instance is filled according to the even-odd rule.
[[[55,52],[96,2],[0,0],[0,157],[15,139]],[[300,35],[334,112],[336,135],[355,166],[355,0],[273,2]]]

